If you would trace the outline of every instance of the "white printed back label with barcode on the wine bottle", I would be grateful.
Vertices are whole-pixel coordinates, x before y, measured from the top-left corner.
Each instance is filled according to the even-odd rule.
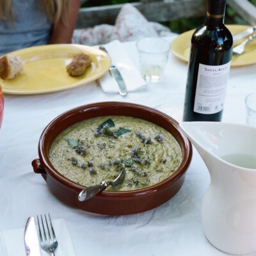
[[[194,112],[209,115],[223,109],[230,63],[219,66],[199,64]]]

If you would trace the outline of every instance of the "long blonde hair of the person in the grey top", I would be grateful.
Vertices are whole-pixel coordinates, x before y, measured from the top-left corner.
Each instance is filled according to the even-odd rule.
[[[52,24],[57,24],[67,13],[68,0],[38,0],[38,4]],[[0,1],[0,19],[13,22],[12,0]]]

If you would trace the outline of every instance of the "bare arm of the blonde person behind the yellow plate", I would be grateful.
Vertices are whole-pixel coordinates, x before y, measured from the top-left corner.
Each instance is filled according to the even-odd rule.
[[[52,29],[49,44],[70,44],[74,28],[76,26],[77,13],[80,7],[80,0],[68,1],[67,13],[64,19],[59,20],[58,24]]]

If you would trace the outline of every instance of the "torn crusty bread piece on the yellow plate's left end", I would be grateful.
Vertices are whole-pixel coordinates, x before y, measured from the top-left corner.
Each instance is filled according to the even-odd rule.
[[[24,67],[24,61],[20,56],[4,55],[0,58],[0,77],[4,80],[13,79],[20,74]]]

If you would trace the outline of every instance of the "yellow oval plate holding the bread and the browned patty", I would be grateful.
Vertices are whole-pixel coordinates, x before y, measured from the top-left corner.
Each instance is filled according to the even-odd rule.
[[[79,77],[71,77],[66,65],[76,54],[86,53],[92,65]],[[39,94],[58,92],[90,83],[101,77],[110,67],[111,60],[103,51],[86,45],[56,44],[29,47],[11,52],[25,61],[24,71],[10,80],[0,79],[4,93]]]

